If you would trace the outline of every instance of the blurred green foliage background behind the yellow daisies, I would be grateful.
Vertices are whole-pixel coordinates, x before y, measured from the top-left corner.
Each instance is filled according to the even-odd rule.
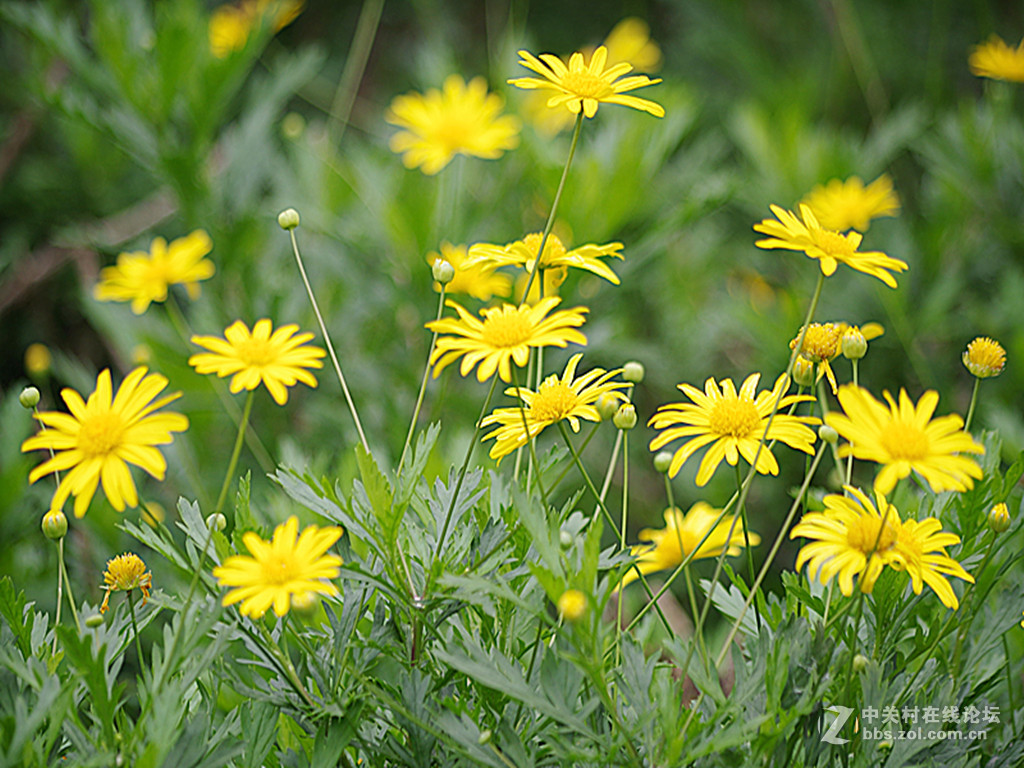
[[[308,2],[291,25],[276,34],[264,25],[225,58],[208,45],[214,7],[0,5],[0,572],[28,574],[19,584],[37,585],[42,605],[53,599],[53,547],[39,535],[52,484],[27,483],[41,458],[19,453],[33,430],[17,403],[26,384],[42,389],[42,408],[62,409],[60,388],[88,393],[104,367],[120,380],[146,359],[167,375],[184,392],[175,408],[191,428],[165,452],[165,482],[136,478],[169,518],[178,495],[209,507],[234,436],[226,387],[187,367],[196,350],[165,307],[136,316],[95,301],[99,268],[154,237],[204,228],[217,273],[198,301],[176,295],[193,331],[220,334],[237,318],[251,326],[263,316],[313,331],[276,224],[279,211],[297,208],[299,244],[371,445],[393,466],[429,344],[423,324],[436,306],[426,255],[442,240],[506,243],[542,228],[568,137],[524,118],[514,152],[457,158],[428,177],[388,150],[390,100],[439,87],[451,73],[481,75],[521,114],[527,94],[505,84],[524,74],[516,50],[564,56],[599,44],[624,16],[646,20],[660,46],[665,82],[641,95],[668,114],[602,106],[586,123],[557,231],[572,245],[625,244],[614,264],[621,287],[573,274],[562,295],[591,309],[585,368],[646,366],[635,393],[641,426],[630,439],[631,538],[660,524],[664,486],[643,424],[680,398],[675,385],[709,376],[738,383],[755,371],[770,384],[784,369],[817,266],[755,248],[751,227],[769,204],[793,208],[833,177],[892,176],[902,211],[874,221],[864,248],[909,270],[892,291],[841,267],[816,319],[885,326],[861,381],[876,393],[906,387],[914,399],[937,389],[939,413],[967,411],[966,344],[999,340],[1009,365],[982,387],[975,425],[998,429],[1007,456],[1024,449],[1024,86],[980,80],[967,67],[971,47],[991,34],[1017,44],[1020,3]],[[25,352],[34,343],[52,364],[30,376]],[[549,353],[548,370],[570,352]],[[836,368],[849,377],[845,360]],[[275,464],[348,487],[355,433],[333,376],[318,379],[315,391],[293,389],[287,408],[257,397],[263,450],[245,451],[242,471],[253,473],[254,506],[267,522],[289,510],[263,476]],[[453,369],[431,382],[421,424],[444,425],[432,471],[461,459],[484,394]],[[590,444],[595,474],[613,438],[609,426]],[[485,451],[477,459],[489,464]],[[731,471],[697,489],[695,469],[690,462],[677,478],[677,503],[724,504]],[[755,483],[752,527],[764,539],[802,471],[790,455],[780,480]],[[72,521],[78,583],[98,588],[105,559],[130,545],[118,519],[97,495],[88,516]],[[778,560],[792,561],[784,551]]]

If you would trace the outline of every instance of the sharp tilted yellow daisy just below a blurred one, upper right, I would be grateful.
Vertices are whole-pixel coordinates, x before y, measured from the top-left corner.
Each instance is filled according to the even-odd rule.
[[[778,217],[764,219],[754,225],[754,230],[770,236],[767,240],[759,240],[758,248],[783,248],[788,251],[803,251],[809,258],[817,259],[821,273],[826,278],[836,271],[840,264],[856,269],[859,272],[878,278],[890,288],[896,288],[896,280],[890,271],[901,272],[906,269],[906,262],[894,259],[881,251],[858,251],[863,237],[860,232],[842,232],[824,229],[818,223],[809,207],[801,204],[801,221],[792,212],[779,206],[770,206],[771,212]]]

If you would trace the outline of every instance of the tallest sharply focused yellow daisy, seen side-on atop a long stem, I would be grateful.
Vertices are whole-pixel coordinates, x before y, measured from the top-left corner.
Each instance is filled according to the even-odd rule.
[[[604,67],[607,58],[608,49],[603,45],[594,51],[589,65],[584,62],[583,53],[578,51],[569,56],[568,67],[551,53],[542,53],[538,58],[529,51],[521,50],[519,63],[544,79],[513,78],[508,82],[525,90],[553,90],[555,95],[548,99],[548,106],[565,106],[573,115],[579,115],[582,110],[586,117],[592,118],[597,114],[598,104],[607,103],[632,106],[664,118],[665,108],[660,104],[646,98],[626,95],[627,91],[660,83],[662,79],[651,80],[646,75],[634,75],[617,80],[631,72],[633,66],[621,61],[606,70]]]

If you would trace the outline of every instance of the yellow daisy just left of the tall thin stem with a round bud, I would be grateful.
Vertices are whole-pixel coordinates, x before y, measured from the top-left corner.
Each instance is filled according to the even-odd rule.
[[[325,352],[319,347],[307,346],[311,333],[295,332],[296,325],[282,326],[272,331],[270,321],[256,321],[252,333],[242,321],[234,321],[224,331],[224,338],[193,336],[209,352],[200,352],[188,358],[188,365],[200,374],[217,374],[220,378],[233,375],[231,392],[255,389],[261,383],[279,406],[288,402],[288,387],[301,381],[310,387],[316,379],[306,369],[324,368],[321,358]]]

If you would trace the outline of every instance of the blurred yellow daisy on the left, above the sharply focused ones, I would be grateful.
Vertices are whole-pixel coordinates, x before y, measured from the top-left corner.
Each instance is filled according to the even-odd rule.
[[[99,301],[130,301],[135,314],[154,301],[167,301],[171,286],[183,285],[189,298],[196,299],[199,282],[213,276],[213,262],[204,258],[212,249],[210,236],[202,229],[170,245],[156,238],[148,253],[122,253],[117,264],[103,267],[94,295]]]

